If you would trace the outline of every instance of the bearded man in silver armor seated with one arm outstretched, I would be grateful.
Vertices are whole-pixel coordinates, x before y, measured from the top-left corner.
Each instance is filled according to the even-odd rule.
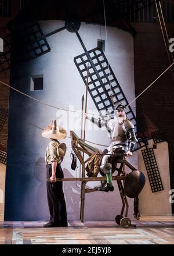
[[[112,165],[110,163],[110,154],[126,154],[127,157],[130,157],[132,156],[137,143],[133,123],[126,117],[126,113],[124,111],[125,106],[118,103],[114,106],[114,109],[114,118],[108,121],[100,118],[93,118],[86,113],[84,114],[86,119],[95,123],[100,128],[106,126],[106,129],[110,133],[110,146],[107,148],[108,152],[104,155],[100,166],[100,170],[102,170],[104,175],[107,177],[107,183],[103,182],[102,186],[98,188],[98,190],[106,192],[114,190],[112,184]]]

